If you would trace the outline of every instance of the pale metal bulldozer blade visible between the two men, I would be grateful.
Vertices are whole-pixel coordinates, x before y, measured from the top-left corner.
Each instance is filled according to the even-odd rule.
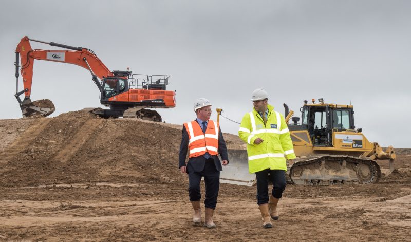
[[[227,150],[229,165],[223,166],[220,182],[251,187],[255,184],[255,174],[248,172],[247,150]]]

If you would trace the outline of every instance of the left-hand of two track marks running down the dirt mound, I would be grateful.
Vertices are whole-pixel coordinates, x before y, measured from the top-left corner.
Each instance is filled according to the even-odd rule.
[[[13,143],[0,153],[0,164],[6,163],[20,155],[23,150],[30,146],[30,143],[44,131],[50,120],[51,119],[42,118],[33,122],[24,132],[24,135],[17,137]]]

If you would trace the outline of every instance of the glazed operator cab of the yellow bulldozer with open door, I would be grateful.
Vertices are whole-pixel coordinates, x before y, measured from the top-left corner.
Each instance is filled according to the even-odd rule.
[[[301,124],[307,127],[313,146],[331,147],[333,132],[355,128],[353,114],[350,105],[304,104]]]

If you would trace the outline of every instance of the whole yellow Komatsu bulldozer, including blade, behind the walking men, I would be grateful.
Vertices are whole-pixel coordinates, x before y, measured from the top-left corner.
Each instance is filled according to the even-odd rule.
[[[371,143],[354,125],[352,105],[304,101],[299,117],[285,107],[294,152],[293,162],[287,161],[287,182],[298,185],[366,184],[378,182],[381,169],[376,160],[389,160],[394,170],[394,148],[383,151]],[[217,119],[221,109],[217,109]],[[291,119],[291,123],[289,120]],[[222,183],[253,185],[255,175],[248,173],[247,150],[228,150],[230,165],[220,174]]]

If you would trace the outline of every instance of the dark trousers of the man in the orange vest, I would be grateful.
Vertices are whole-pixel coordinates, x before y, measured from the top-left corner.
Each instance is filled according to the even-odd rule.
[[[204,177],[206,183],[206,200],[204,204],[206,204],[206,208],[215,209],[220,189],[220,172],[215,168],[213,158],[206,161],[202,172],[188,172],[188,175],[190,201],[199,201],[201,199],[200,182],[201,177]]]

